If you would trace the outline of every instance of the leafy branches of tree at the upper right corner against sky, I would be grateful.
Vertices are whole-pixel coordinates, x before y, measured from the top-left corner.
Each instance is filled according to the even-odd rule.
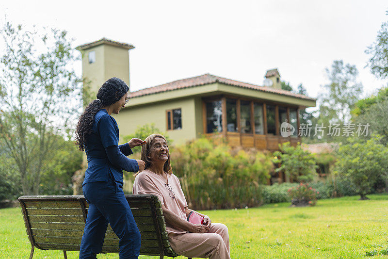
[[[388,15],[388,11],[386,11]],[[380,31],[377,32],[376,41],[372,43],[365,53],[371,57],[368,66],[373,75],[385,79],[388,77],[388,22],[381,24]]]

